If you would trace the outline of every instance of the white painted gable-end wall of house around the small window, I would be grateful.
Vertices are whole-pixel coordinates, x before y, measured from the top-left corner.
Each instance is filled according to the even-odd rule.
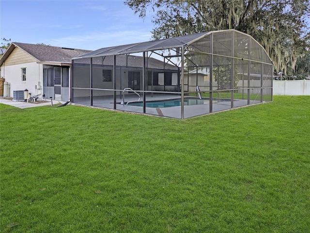
[[[26,68],[26,81],[22,81],[22,68]],[[9,97],[13,97],[13,91],[15,90],[28,89],[29,93],[32,95],[41,93],[42,89],[39,88],[43,83],[42,73],[43,66],[36,62],[10,66],[7,66],[7,62],[5,62],[4,65],[1,66],[1,75],[5,78],[5,81],[9,83]],[[39,81],[40,87],[38,86]],[[35,85],[37,85],[37,89]]]

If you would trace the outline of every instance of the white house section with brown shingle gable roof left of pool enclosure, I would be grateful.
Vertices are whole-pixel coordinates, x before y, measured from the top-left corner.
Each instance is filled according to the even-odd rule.
[[[8,97],[27,89],[46,99],[69,100],[71,58],[87,52],[90,50],[13,42],[0,59],[1,78],[9,83]]]

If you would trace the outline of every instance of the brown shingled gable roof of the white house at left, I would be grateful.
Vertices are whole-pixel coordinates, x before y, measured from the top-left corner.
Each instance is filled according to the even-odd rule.
[[[33,56],[38,62],[61,63],[68,65],[71,64],[71,59],[73,57],[77,57],[91,51],[13,42],[1,57],[0,66],[16,47]]]

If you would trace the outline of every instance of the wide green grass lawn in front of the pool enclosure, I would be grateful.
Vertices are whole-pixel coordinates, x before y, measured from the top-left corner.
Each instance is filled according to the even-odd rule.
[[[186,120],[0,104],[0,232],[308,233],[309,102]]]

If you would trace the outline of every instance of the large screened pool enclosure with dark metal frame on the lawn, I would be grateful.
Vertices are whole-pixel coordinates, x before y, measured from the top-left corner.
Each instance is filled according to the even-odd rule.
[[[236,30],[103,48],[72,60],[73,103],[189,118],[272,101],[273,65]]]

